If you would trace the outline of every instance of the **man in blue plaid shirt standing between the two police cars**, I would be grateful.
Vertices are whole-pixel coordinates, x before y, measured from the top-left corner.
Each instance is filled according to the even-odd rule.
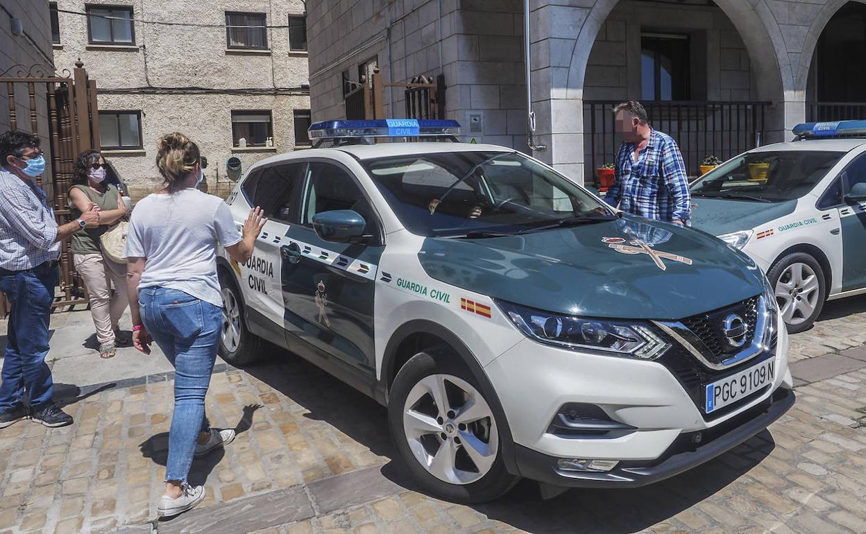
[[[691,218],[686,165],[676,141],[653,130],[640,102],[613,109],[623,138],[613,187],[604,200],[627,213],[685,226]]]

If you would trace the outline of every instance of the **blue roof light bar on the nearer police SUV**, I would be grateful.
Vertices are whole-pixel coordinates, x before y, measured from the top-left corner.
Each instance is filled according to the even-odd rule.
[[[310,139],[318,147],[371,143],[372,138],[447,138],[456,142],[460,123],[446,119],[326,120],[310,125]]]

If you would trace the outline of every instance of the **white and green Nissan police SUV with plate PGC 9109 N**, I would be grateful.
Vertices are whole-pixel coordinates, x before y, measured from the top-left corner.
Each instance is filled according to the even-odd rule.
[[[372,143],[458,127],[318,123],[319,147],[253,165],[230,209],[269,220],[249,261],[220,259],[223,358],[264,339],[372,396],[410,473],[458,501],[520,477],[649,484],[791,407],[787,334],[745,254],[512,149]]]

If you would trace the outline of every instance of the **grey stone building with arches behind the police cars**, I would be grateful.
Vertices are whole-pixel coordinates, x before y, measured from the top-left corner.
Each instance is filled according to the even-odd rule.
[[[313,120],[346,115],[344,79],[444,75],[466,138],[594,180],[618,140],[611,106],[642,100],[691,174],[790,138],[809,120],[866,118],[866,4],[846,0],[528,0],[535,145],[527,146],[521,0],[323,0],[307,6]],[[847,59],[846,59],[847,58]],[[385,87],[387,117],[406,115]]]

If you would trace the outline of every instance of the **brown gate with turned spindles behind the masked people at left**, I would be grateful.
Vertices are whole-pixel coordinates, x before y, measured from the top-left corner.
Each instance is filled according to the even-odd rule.
[[[22,86],[26,87],[28,95],[24,106],[29,109],[29,113],[23,117],[18,113],[22,102],[16,101],[16,87]],[[48,202],[54,208],[57,223],[68,222],[68,191],[72,184],[75,158],[81,151],[99,150],[100,147],[95,80],[87,78],[84,63],[79,60],[75,62],[72,73],[64,69],[59,76],[46,76],[40,66],[27,68],[14,65],[0,73],[0,87],[3,87],[6,93],[5,107],[10,129],[22,128],[42,138],[48,138],[48,147],[42,147],[48,172],[37,177],[36,181],[48,194]],[[19,95],[22,93],[18,91]],[[37,101],[42,106],[37,105]],[[46,132],[39,129],[40,115],[48,118]],[[72,265],[68,240],[63,242],[61,251],[60,293],[57,294],[54,306],[84,304],[87,302],[87,292]],[[0,298],[0,317],[5,317],[8,311],[5,297]]]

